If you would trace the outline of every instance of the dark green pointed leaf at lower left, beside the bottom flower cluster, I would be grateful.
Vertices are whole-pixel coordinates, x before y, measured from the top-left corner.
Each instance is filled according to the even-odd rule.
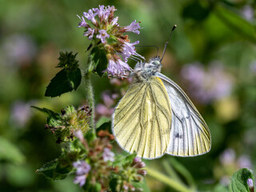
[[[43,174],[46,178],[51,178],[53,180],[60,180],[66,178],[66,174],[58,174],[56,173],[56,168],[58,166],[58,161],[54,160],[52,162],[47,162],[43,165],[40,169],[36,170],[35,172],[38,174]]]

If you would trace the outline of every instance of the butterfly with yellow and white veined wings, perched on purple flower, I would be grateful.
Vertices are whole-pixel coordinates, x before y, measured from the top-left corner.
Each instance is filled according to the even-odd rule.
[[[157,56],[134,67],[130,88],[112,115],[115,140],[147,159],[206,154],[210,130],[185,92],[160,73],[161,61]]]

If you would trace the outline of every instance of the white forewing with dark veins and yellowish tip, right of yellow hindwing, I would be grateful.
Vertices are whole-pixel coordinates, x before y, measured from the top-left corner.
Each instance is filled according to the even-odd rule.
[[[172,124],[166,154],[182,157],[206,154],[210,150],[210,130],[190,98],[170,78],[157,73],[170,98]]]

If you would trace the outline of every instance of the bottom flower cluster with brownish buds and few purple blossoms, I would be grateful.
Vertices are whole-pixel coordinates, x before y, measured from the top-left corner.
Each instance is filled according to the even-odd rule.
[[[100,130],[98,137],[92,140],[84,138],[82,131],[76,131],[74,135],[86,149],[83,158],[73,162],[76,170],[74,183],[79,184],[84,190],[92,190],[92,187],[97,187],[101,191],[110,188],[114,188],[115,191],[138,190],[132,182],[142,181],[146,175],[146,170],[142,170],[145,163],[140,158],[135,158],[134,154],[122,160],[116,157],[111,151],[110,144],[114,139],[113,134]]]

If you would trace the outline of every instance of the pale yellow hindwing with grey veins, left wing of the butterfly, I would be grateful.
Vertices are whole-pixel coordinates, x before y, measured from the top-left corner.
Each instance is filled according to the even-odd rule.
[[[129,153],[159,158],[170,142],[171,109],[161,79],[134,82],[112,116],[116,141]]]

